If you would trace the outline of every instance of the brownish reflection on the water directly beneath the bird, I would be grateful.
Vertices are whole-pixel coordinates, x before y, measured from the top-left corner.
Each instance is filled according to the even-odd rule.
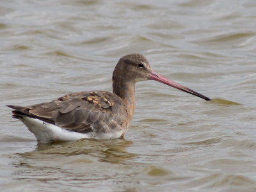
[[[18,154],[29,159],[56,159],[60,156],[77,156],[81,161],[102,161],[108,163],[124,163],[125,160],[137,156],[126,151],[132,141],[116,140],[77,140],[61,143],[38,143],[35,150]],[[81,157],[81,155],[87,155]],[[97,157],[95,159],[95,157]],[[81,159],[82,158],[82,159]],[[85,160],[84,159],[84,160]],[[90,160],[91,159],[91,160]]]

